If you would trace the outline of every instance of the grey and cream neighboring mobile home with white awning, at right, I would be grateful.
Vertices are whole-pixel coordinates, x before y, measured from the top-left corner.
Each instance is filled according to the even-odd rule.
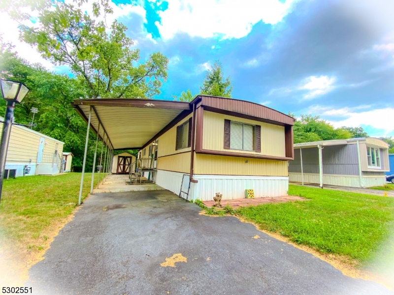
[[[370,187],[386,183],[389,145],[376,138],[327,140],[294,145],[289,180]]]

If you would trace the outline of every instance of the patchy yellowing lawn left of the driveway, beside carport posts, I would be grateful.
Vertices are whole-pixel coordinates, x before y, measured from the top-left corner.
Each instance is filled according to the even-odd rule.
[[[90,191],[92,173],[85,173],[82,197]],[[95,176],[97,184],[97,174]],[[55,235],[78,202],[81,173],[29,176],[4,180],[0,229],[21,250],[39,251]]]

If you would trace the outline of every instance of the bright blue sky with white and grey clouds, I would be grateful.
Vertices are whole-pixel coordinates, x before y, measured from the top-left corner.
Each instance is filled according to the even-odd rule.
[[[393,0],[125,3],[107,22],[129,28],[141,60],[157,51],[170,59],[157,99],[197,93],[220,59],[234,98],[394,136]]]

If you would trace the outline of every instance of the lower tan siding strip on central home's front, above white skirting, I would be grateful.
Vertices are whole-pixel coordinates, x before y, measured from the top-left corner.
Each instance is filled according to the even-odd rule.
[[[194,173],[203,175],[288,176],[287,161],[207,154],[196,154]]]

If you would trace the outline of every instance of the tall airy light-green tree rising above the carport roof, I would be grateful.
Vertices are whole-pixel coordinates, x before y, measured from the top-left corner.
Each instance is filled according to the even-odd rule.
[[[108,34],[103,22],[62,2],[43,9],[38,19],[38,28],[21,26],[23,40],[36,45],[43,58],[68,66],[87,88],[87,97],[152,98],[160,94],[168,59],[157,52],[140,63],[139,50],[130,49],[133,41],[122,23],[114,21]]]

